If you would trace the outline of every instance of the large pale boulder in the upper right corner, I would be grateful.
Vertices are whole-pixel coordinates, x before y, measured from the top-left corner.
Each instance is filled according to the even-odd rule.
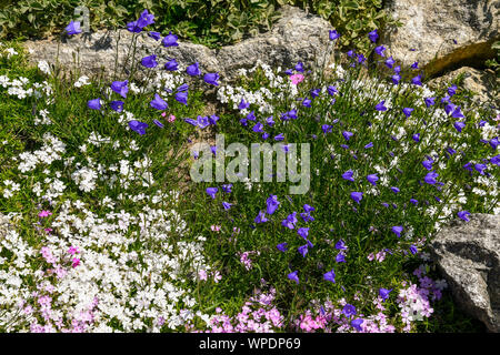
[[[498,0],[389,0],[386,10],[402,23],[382,36],[390,54],[404,65],[418,61],[428,75],[496,55]]]

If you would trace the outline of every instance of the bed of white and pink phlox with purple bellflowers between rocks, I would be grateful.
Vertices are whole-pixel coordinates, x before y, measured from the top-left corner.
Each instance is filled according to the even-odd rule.
[[[153,26],[147,10],[127,26],[131,52],[139,36],[156,50],[111,79],[0,47],[2,332],[476,329],[427,248],[451,219],[500,213],[494,106],[431,90],[377,31],[370,53],[256,61],[229,84],[163,58],[182,44]],[[216,134],[283,156],[308,143],[309,189],[251,179],[246,159],[236,181],[193,181],[207,154],[231,163]]]

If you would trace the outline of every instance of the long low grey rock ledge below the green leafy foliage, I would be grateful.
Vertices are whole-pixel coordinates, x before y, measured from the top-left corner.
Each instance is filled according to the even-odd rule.
[[[160,41],[154,41],[147,33],[138,38],[137,58],[150,55],[156,49],[160,65],[167,58],[174,58],[181,68],[199,62],[203,72],[219,72],[223,83],[237,77],[238,69],[251,68],[260,59],[274,68],[290,68],[298,61],[311,63],[317,58],[322,59],[330,41],[328,21],[317,16],[286,6],[279,11],[280,19],[271,31],[246,39],[237,44],[212,50],[201,44],[178,41],[179,47],[163,48]],[[117,45],[117,39],[120,39]],[[27,41],[26,47],[31,52],[31,60],[56,62],[66,68],[74,65],[78,53],[79,65],[84,74],[103,71],[109,75],[114,69],[118,53],[119,63],[127,58],[132,33],[127,30],[99,31],[91,34],[78,34],[58,45],[58,41]],[[58,54],[59,50],[59,54]]]

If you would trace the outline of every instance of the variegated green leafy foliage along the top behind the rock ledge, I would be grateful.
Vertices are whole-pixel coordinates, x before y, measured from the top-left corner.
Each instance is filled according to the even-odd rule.
[[[74,8],[90,10],[90,27],[123,27],[143,9],[157,14],[157,28],[212,48],[230,44],[279,19],[277,10],[291,4],[321,16],[342,33],[340,43],[366,51],[366,33],[394,23],[381,0],[0,0],[0,38],[44,37],[76,20]],[[158,19],[158,16],[161,18]],[[354,44],[356,43],[356,44]]]

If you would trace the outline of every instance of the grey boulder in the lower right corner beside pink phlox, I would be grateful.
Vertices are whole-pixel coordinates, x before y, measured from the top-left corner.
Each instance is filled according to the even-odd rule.
[[[453,298],[490,332],[500,332],[500,215],[453,221],[431,244]]]

